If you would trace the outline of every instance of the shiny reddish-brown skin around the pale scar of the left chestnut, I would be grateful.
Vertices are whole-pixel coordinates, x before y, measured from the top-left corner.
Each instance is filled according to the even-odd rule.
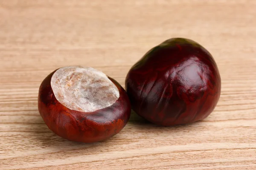
[[[71,141],[91,143],[108,139],[125,127],[130,118],[131,104],[118,82],[108,77],[120,94],[110,107],[94,112],[74,111],[61,105],[55,98],[51,88],[55,71],[44,79],[38,93],[38,110],[50,130]]]

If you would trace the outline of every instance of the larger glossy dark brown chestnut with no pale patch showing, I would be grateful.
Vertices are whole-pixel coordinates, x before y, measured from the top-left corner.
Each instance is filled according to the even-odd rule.
[[[137,114],[157,125],[180,125],[202,120],[213,111],[221,94],[221,77],[204,47],[172,38],[131,68],[125,87]]]

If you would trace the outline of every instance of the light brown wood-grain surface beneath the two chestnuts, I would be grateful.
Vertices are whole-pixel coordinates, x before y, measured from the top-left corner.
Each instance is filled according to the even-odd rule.
[[[157,127],[132,113],[94,144],[52,133],[37,108],[53,70],[91,66],[124,86],[154,45],[186,37],[218,64],[204,121]],[[0,0],[0,169],[256,170],[256,0]]]

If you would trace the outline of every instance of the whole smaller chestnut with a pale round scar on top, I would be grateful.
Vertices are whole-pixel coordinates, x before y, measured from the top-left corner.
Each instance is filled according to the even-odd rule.
[[[98,142],[119,133],[131,114],[125,90],[90,67],[62,67],[49,74],[38,94],[38,110],[57,135]]]

